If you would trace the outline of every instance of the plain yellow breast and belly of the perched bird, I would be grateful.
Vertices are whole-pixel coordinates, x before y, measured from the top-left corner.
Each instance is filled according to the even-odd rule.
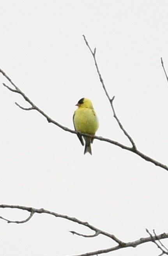
[[[99,127],[94,109],[78,108],[74,113],[74,126],[81,133],[95,134]]]

